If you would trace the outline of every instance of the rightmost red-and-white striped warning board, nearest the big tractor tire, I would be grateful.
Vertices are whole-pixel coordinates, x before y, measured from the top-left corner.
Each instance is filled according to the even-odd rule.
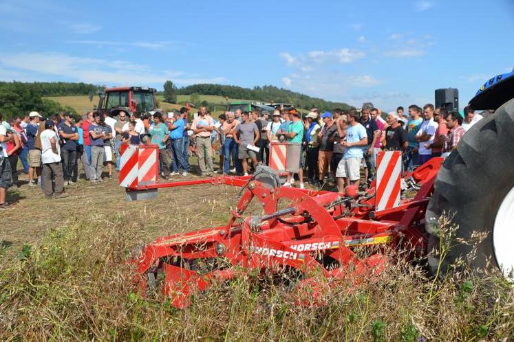
[[[402,152],[378,152],[377,163],[375,210],[378,212],[400,205]]]

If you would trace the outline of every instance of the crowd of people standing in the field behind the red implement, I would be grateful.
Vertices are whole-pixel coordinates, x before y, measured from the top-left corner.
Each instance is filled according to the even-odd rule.
[[[422,108],[413,104],[382,113],[372,104],[360,111],[316,108],[303,115],[296,109],[225,112],[217,118],[202,106],[188,120],[188,109],[176,113],[129,113],[110,116],[92,111],[83,116],[60,113],[47,119],[38,112],[9,122],[0,114],[0,209],[6,209],[6,189],[19,186],[17,166],[21,161],[28,186],[40,185],[46,198],[66,197],[65,187],[83,177],[98,183],[120,170],[122,145],[157,144],[160,176],[187,176],[190,159],[197,156],[198,174],[212,176],[213,159],[219,155],[224,175],[248,175],[257,165],[269,164],[270,143],[288,143],[283,186],[295,179],[324,186],[332,179],[344,194],[347,185],[366,186],[376,172],[381,150],[403,152],[404,168],[415,168],[432,157],[446,157],[464,133],[482,115],[466,107],[457,111]],[[104,172],[104,170],[106,172]],[[361,176],[363,174],[363,177]],[[361,184],[361,180],[363,184]]]

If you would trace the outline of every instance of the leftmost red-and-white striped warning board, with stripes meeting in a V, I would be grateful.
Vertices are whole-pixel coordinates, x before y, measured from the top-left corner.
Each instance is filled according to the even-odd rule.
[[[157,183],[159,174],[157,145],[122,148],[120,160],[120,186],[134,188]]]

